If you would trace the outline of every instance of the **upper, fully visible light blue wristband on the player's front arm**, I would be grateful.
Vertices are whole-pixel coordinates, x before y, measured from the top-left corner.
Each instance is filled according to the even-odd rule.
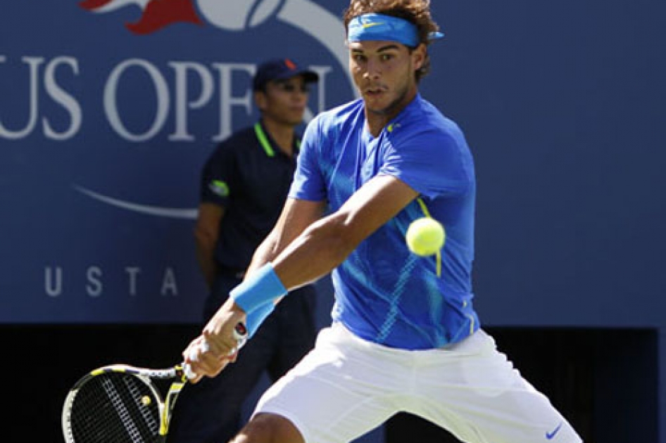
[[[230,293],[234,302],[250,314],[266,302],[271,302],[282,295],[287,295],[287,288],[279,280],[272,264],[267,263],[249,276]]]

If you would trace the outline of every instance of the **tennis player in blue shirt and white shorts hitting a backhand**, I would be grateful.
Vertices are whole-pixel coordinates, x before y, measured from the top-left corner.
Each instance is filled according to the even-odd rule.
[[[215,375],[237,322],[253,333],[288,290],[332,272],[332,326],[232,442],[349,442],[398,411],[463,442],[581,442],[479,328],[472,155],[418,92],[427,47],[442,37],[429,1],[351,0],[344,23],[361,98],[310,122],[275,229],[184,352],[196,373]],[[441,263],[405,243],[426,215],[448,234]]]

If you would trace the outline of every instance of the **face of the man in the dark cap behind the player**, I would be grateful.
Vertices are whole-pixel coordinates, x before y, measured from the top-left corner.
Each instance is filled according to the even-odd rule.
[[[303,121],[308,103],[308,85],[301,75],[272,80],[266,84],[265,91],[256,94],[256,102],[264,119],[296,126]]]

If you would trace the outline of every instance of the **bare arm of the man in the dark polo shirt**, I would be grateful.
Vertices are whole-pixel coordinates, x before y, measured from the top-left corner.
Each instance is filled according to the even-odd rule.
[[[224,217],[224,207],[215,203],[201,203],[199,216],[194,226],[194,241],[196,243],[196,259],[206,278],[208,288],[215,281],[215,245],[220,235],[220,221]]]

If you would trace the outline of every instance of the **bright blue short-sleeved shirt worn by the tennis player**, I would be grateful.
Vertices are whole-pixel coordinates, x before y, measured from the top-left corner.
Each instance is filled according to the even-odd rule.
[[[401,349],[458,342],[479,328],[472,307],[475,172],[462,131],[419,95],[377,138],[363,101],[315,117],[306,129],[291,198],[337,211],[372,177],[391,175],[420,196],[363,240],[332,272],[335,321],[360,338]],[[420,201],[418,201],[420,200]],[[446,229],[441,263],[406,245],[426,211]],[[438,276],[438,267],[441,274]]]

